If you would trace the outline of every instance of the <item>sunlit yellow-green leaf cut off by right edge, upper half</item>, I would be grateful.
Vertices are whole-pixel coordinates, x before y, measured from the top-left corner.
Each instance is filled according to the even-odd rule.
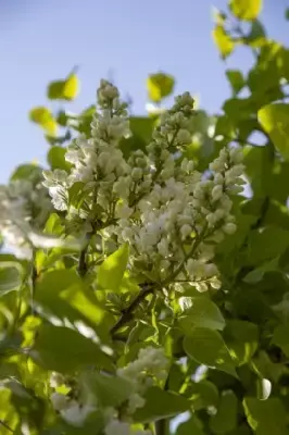
[[[289,105],[267,104],[259,110],[257,119],[277,150],[289,160]]]

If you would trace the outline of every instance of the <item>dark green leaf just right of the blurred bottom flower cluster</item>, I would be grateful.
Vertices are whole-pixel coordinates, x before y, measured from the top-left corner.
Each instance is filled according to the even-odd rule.
[[[190,408],[184,396],[164,391],[159,387],[150,387],[143,396],[146,405],[138,409],[133,419],[138,423],[151,423],[155,420],[169,419]]]

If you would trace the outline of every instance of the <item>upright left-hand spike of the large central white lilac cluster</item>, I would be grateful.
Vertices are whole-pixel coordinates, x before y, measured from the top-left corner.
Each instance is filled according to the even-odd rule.
[[[117,88],[102,80],[98,89],[100,110],[91,123],[91,138],[80,135],[65,154],[65,160],[73,164],[71,173],[61,170],[43,172],[45,186],[49,188],[56,210],[68,209],[68,189],[80,182],[87,192],[86,213],[93,212],[93,207],[98,206],[101,214],[98,220],[112,214],[120,199],[118,191],[125,189],[123,176],[129,170],[117,148],[120,140],[129,135],[126,107],[120,101]]]

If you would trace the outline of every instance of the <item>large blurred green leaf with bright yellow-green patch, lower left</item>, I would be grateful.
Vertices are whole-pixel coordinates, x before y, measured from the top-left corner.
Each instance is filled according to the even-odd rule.
[[[103,319],[96,296],[73,270],[54,270],[43,274],[36,284],[35,303],[36,308],[61,320],[83,321],[96,326]]]

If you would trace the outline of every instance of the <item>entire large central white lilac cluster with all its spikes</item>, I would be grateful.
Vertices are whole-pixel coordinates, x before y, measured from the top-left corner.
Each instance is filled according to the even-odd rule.
[[[242,152],[224,148],[206,179],[194,170],[183,153],[191,144],[194,116],[193,99],[185,92],[160,116],[146,152],[134,151],[126,160],[118,147],[129,135],[126,104],[105,80],[97,107],[91,138],[80,135],[66,152],[71,173],[43,174],[54,207],[75,215],[68,190],[80,182],[85,200],[78,219],[86,228],[101,222],[102,236],[114,234],[120,244],[128,243],[133,271],[141,269],[162,283],[173,276],[200,290],[208,284],[217,288],[213,244],[236,231],[231,197],[244,183]]]

